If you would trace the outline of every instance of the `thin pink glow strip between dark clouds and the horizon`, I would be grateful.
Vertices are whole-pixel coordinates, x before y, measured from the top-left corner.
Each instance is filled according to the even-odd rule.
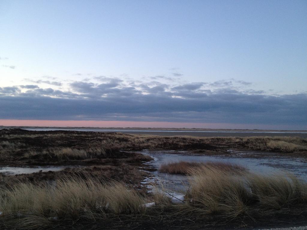
[[[102,127],[102,128],[212,128],[212,129],[285,129],[287,125],[257,125],[231,123],[188,123],[166,121],[60,121],[60,120],[10,120],[0,119],[2,126],[38,126],[38,127]]]

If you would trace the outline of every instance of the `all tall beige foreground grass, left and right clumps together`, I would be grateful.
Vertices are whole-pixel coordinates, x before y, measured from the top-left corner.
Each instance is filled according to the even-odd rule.
[[[206,165],[191,176],[185,201],[179,204],[161,191],[145,196],[122,183],[90,177],[59,178],[55,187],[24,182],[1,190],[0,223],[8,229],[69,228],[69,221],[79,220],[107,222],[114,228],[125,217],[150,226],[163,218],[207,224],[250,220],[257,225],[278,214],[307,215],[307,183],[293,175],[233,174]],[[147,202],[155,203],[146,207]]]

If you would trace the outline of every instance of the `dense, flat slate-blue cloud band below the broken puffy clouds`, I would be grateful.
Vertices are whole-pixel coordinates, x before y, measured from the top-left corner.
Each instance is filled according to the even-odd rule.
[[[0,117],[5,119],[138,120],[250,124],[307,124],[307,95],[249,95],[238,92],[202,94],[202,97],[173,98],[117,89],[105,98],[53,98],[0,96]],[[38,91],[38,90],[36,90]],[[54,95],[55,90],[40,90]],[[304,127],[305,127],[304,126]]]

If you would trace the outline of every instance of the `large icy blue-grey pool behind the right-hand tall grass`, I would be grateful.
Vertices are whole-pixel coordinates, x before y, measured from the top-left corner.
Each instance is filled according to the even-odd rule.
[[[307,181],[307,163],[305,159],[280,156],[270,156],[268,153],[254,151],[231,151],[230,155],[191,155],[185,151],[150,151],[143,150],[140,153],[149,155],[152,161],[145,163],[146,167],[156,169],[151,172],[152,177],[146,178],[143,185],[148,188],[151,183],[164,187],[169,191],[185,191],[188,188],[189,178],[185,175],[176,175],[158,172],[158,168],[169,162],[223,162],[243,166],[251,172],[260,174],[271,174],[278,172],[290,172]],[[245,155],[245,157],[242,157]],[[248,158],[248,155],[262,155],[261,158]],[[145,183],[146,182],[146,183]]]

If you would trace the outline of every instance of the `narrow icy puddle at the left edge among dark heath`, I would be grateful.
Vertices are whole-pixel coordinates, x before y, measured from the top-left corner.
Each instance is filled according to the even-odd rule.
[[[39,171],[48,172],[48,171],[60,171],[65,168],[76,168],[80,167],[78,165],[72,166],[0,166],[0,173],[5,175],[16,175],[16,174],[30,174]]]

